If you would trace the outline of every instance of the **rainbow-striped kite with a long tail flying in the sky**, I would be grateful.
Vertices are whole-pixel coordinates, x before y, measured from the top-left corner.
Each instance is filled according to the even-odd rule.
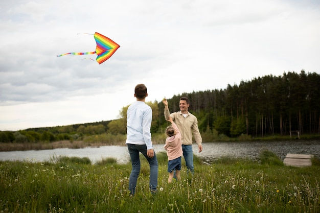
[[[115,41],[112,41],[110,38],[100,34],[100,33],[95,33],[95,34],[89,34],[89,35],[94,35],[97,43],[96,51],[95,52],[86,52],[86,53],[65,53],[58,55],[60,56],[65,56],[65,55],[88,55],[88,54],[97,54],[96,61],[101,64],[105,62],[108,58],[110,58],[113,53],[115,53],[118,48],[120,48],[120,45],[117,44]],[[93,60],[93,59],[92,59]]]

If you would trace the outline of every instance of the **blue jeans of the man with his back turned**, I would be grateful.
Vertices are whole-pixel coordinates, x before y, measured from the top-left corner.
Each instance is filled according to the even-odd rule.
[[[147,146],[146,145],[135,145],[127,144],[128,151],[131,158],[132,170],[129,178],[129,191],[130,194],[135,194],[136,181],[138,180],[140,174],[140,152],[145,156],[150,165],[150,180],[149,187],[151,191],[156,191],[158,184],[158,160],[156,159],[155,153],[153,158],[147,156]]]

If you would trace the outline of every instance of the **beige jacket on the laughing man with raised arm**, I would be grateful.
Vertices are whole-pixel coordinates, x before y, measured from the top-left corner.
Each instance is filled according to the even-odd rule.
[[[173,112],[170,114],[169,109],[165,108],[165,118],[169,119],[169,115],[172,117],[173,122],[177,125],[181,133],[182,145],[192,145],[192,136],[197,145],[202,145],[202,137],[198,128],[197,117],[188,112],[188,115],[184,117],[181,111]]]

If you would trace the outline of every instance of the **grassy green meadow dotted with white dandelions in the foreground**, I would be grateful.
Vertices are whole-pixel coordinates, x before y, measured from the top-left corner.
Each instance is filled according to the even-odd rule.
[[[149,192],[142,160],[136,194],[128,193],[131,164],[104,158],[55,156],[48,162],[0,161],[0,212],[320,212],[320,163],[286,167],[265,150],[260,160],[223,157],[167,183],[167,155],[157,153],[158,191]]]

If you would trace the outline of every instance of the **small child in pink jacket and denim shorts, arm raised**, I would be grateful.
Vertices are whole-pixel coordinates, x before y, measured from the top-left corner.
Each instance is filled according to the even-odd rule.
[[[181,170],[181,156],[182,156],[182,145],[181,145],[181,133],[178,127],[173,123],[171,116],[169,116],[169,122],[171,126],[167,127],[166,133],[168,135],[166,139],[166,145],[164,146],[167,150],[168,155],[168,172],[169,178],[168,183],[172,182],[172,178],[175,175],[177,180],[181,180],[180,170]]]

